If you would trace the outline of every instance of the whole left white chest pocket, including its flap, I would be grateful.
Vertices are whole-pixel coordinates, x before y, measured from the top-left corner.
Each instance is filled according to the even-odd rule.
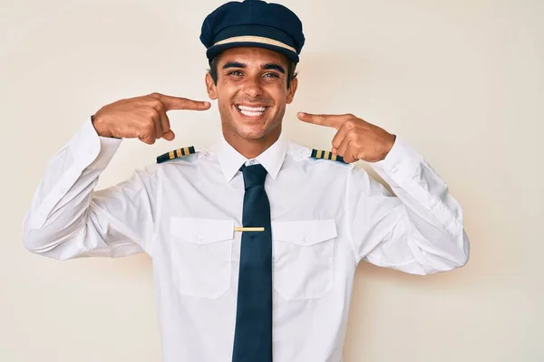
[[[230,288],[234,222],[170,217],[172,279],[182,295],[217,299]]]

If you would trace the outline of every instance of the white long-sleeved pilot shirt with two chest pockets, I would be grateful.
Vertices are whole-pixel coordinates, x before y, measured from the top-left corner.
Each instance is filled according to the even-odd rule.
[[[268,172],[275,362],[342,360],[361,260],[429,274],[469,258],[460,205],[402,138],[371,164],[395,195],[364,168],[311,158],[284,137],[252,160],[221,139],[95,191],[120,144],[84,122],[46,168],[24,245],[59,260],[149,253],[165,362],[232,360],[244,163]]]

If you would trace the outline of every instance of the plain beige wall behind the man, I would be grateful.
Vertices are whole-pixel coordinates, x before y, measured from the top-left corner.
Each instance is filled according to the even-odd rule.
[[[471,238],[471,261],[449,273],[361,265],[345,362],[543,361],[544,2],[282,3],[307,38],[287,134],[329,147],[334,130],[296,120],[304,110],[402,135],[447,181]],[[219,4],[0,1],[0,361],[159,361],[149,257],[48,260],[24,249],[22,222],[49,157],[102,105],[206,98],[199,28]],[[170,119],[175,146],[124,142],[99,186],[219,135],[215,104]]]

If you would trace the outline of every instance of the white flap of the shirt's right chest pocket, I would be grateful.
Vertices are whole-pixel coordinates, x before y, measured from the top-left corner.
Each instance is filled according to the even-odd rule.
[[[272,239],[307,246],[336,237],[335,220],[272,222]]]

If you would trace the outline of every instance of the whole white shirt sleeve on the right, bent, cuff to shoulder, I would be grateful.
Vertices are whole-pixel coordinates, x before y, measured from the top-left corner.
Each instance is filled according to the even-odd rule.
[[[363,168],[350,170],[346,214],[356,262],[413,274],[466,264],[461,206],[423,157],[397,137],[384,160],[371,165],[393,194]]]

